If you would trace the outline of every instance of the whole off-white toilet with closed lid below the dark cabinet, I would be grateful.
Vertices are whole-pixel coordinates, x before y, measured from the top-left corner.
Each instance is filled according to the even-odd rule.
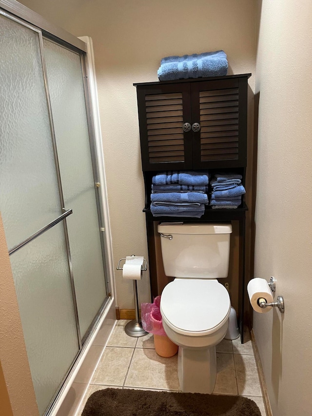
[[[175,277],[161,294],[167,336],[178,345],[182,392],[211,394],[216,379],[215,346],[224,338],[231,312],[227,289],[231,224],[160,223],[165,275]]]

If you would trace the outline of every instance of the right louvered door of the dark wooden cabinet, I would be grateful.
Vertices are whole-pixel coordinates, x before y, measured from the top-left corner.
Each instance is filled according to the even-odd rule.
[[[247,78],[194,82],[194,169],[246,166]]]

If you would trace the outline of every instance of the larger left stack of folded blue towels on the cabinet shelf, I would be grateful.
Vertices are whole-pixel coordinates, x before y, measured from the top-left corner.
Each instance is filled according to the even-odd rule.
[[[154,217],[200,218],[208,204],[208,173],[170,171],[152,179]]]

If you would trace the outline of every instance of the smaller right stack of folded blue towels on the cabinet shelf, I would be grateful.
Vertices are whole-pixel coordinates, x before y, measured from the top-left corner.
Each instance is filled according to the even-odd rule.
[[[241,204],[241,196],[245,188],[241,184],[241,175],[215,174],[211,180],[213,192],[210,205],[215,208],[237,208]]]

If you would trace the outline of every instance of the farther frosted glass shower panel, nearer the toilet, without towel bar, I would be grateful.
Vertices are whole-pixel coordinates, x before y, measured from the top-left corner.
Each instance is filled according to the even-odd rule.
[[[81,338],[107,298],[80,56],[43,40]]]

